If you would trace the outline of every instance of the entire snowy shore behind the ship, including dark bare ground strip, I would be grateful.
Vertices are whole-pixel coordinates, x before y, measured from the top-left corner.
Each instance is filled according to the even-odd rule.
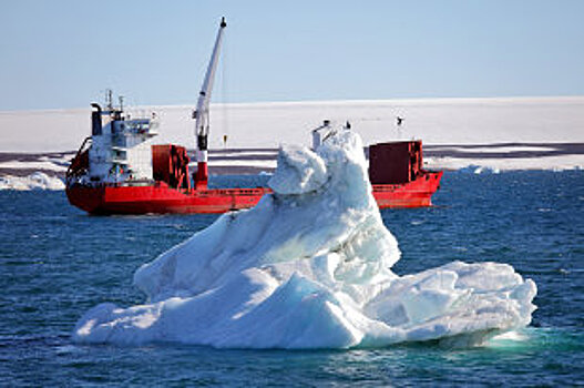
[[[129,112],[156,112],[155,143],[192,149],[191,110]],[[404,118],[400,127],[397,116]],[[365,145],[421,139],[429,169],[584,169],[584,96],[566,96],[213,104],[211,173],[273,171],[278,146],[309,145],[310,130],[325,119],[349,121]],[[90,109],[0,112],[0,176],[62,176],[90,134]]]

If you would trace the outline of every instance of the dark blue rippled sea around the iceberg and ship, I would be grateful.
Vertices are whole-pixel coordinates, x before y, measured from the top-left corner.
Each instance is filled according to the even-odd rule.
[[[522,340],[319,351],[79,346],[71,331],[83,313],[144,302],[134,270],[216,216],[88,216],[62,192],[0,192],[0,385],[584,386],[584,172],[447,172],[433,202],[382,212],[402,251],[395,272],[455,259],[513,265],[539,288]]]

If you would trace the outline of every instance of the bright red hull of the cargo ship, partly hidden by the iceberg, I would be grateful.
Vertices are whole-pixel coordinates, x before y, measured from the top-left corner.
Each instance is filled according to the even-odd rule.
[[[380,208],[431,206],[442,172],[426,173],[406,184],[373,185]],[[176,190],[164,183],[146,186],[66,188],[74,206],[91,214],[225,213],[255,206],[269,188]]]

